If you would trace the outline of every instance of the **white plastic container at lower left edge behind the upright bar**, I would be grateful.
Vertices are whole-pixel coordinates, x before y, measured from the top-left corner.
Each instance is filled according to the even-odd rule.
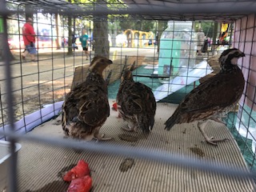
[[[21,149],[21,144],[15,144],[15,153]],[[0,191],[4,190],[8,184],[10,163],[10,142],[0,141]]]

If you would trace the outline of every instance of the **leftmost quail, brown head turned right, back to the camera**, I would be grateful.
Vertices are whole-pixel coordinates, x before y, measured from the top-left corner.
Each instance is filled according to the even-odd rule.
[[[85,82],[66,95],[62,105],[62,129],[67,136],[91,140],[110,115],[107,86],[102,71],[112,62],[104,57],[93,59]]]

